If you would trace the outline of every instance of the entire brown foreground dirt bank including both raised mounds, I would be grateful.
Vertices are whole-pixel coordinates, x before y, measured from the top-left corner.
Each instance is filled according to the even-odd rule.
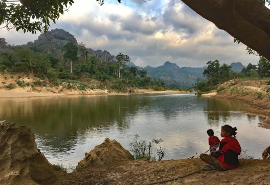
[[[117,141],[108,138],[85,154],[77,171],[57,171],[36,146],[29,127],[0,122],[1,184],[149,184],[196,172],[199,159],[132,160]],[[220,172],[201,171],[163,184],[269,184],[270,160],[241,159],[240,167]]]

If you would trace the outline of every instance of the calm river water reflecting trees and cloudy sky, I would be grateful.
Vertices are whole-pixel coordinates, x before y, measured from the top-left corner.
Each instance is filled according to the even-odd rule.
[[[0,120],[27,125],[53,164],[76,166],[105,137],[130,149],[135,134],[141,140],[162,138],[165,159],[197,156],[208,150],[206,130],[215,135],[224,124],[238,128],[247,154],[261,158],[270,130],[258,126],[257,115],[235,111],[254,108],[237,101],[181,95],[71,96],[0,99]]]

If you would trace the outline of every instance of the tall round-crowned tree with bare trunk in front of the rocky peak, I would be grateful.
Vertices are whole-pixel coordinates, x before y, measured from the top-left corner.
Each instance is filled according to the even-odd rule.
[[[71,74],[73,73],[72,61],[78,60],[78,47],[73,42],[68,42],[64,45],[64,59],[70,62]]]

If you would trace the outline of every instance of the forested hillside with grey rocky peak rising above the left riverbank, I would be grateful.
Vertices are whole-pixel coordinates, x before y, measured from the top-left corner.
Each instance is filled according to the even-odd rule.
[[[100,88],[127,92],[132,88],[163,89],[165,83],[147,77],[145,70],[126,66],[129,56],[87,49],[73,35],[56,29],[41,34],[25,45],[7,45],[0,40],[0,72],[33,75],[53,85],[68,83],[66,88]],[[21,82],[24,83],[24,82]]]

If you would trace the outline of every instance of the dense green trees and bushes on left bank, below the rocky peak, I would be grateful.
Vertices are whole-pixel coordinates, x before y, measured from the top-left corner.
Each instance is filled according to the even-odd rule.
[[[46,52],[35,52],[26,47],[14,47],[11,52],[0,53],[1,73],[33,74],[58,85],[62,82],[76,82],[77,88],[107,88],[121,92],[132,92],[134,88],[164,89],[165,83],[147,77],[147,71],[125,65],[130,58],[122,53],[117,61],[105,62],[95,56],[78,55],[78,47],[74,43],[64,45],[62,56],[53,56]],[[71,65],[66,61],[73,61]],[[122,61],[119,78],[119,61]],[[95,81],[95,87],[91,82]],[[76,85],[75,85],[76,86]],[[68,85],[68,88],[75,88]]]

